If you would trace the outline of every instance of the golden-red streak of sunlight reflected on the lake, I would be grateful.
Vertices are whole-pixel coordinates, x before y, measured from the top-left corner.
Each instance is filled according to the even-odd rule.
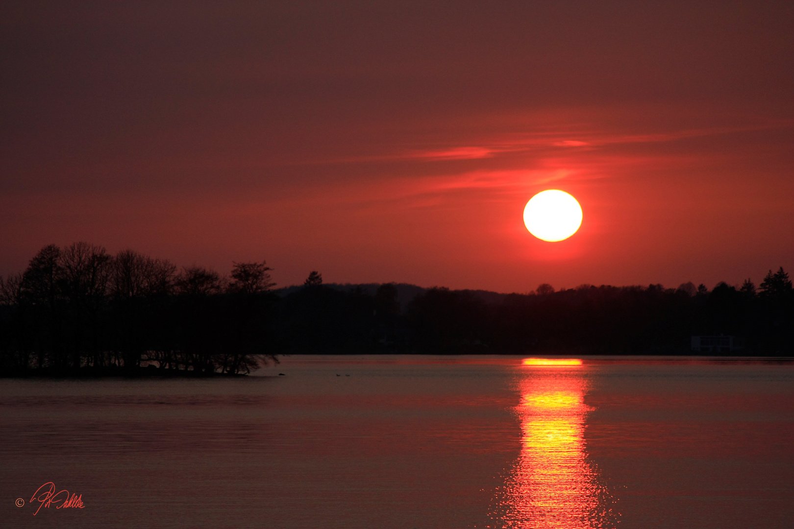
[[[526,358],[520,370],[521,452],[495,498],[492,527],[615,527],[615,499],[585,450],[582,361]]]

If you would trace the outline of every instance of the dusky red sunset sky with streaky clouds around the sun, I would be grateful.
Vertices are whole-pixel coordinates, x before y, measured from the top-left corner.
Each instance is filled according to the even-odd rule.
[[[0,7],[0,274],[77,240],[279,286],[794,271],[791,2],[162,3]],[[522,224],[545,189],[569,240]]]

